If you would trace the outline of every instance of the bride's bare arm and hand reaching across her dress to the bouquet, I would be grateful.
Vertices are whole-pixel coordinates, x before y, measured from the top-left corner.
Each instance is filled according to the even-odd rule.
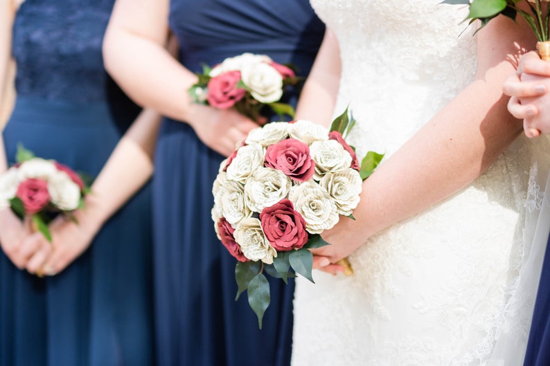
[[[478,33],[478,72],[465,88],[363,183],[356,221],[342,218],[323,233],[336,244],[317,250],[331,262],[368,237],[461,190],[521,133],[506,110],[502,84],[513,73],[518,50],[535,46],[529,29],[504,17]],[[518,30],[520,29],[520,30]],[[383,86],[382,86],[383,87]]]

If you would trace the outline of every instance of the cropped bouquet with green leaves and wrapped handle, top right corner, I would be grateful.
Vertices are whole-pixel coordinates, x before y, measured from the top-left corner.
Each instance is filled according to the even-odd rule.
[[[548,3],[550,0],[527,0],[530,12],[522,10],[518,4],[524,0],[444,0],[442,3],[468,5],[470,12],[468,19],[470,23],[476,19],[481,21],[481,27],[485,26],[491,19],[497,15],[504,15],[515,21],[519,14],[522,16],[529,28],[533,30],[537,37],[537,49],[542,60],[550,60],[550,32],[549,19],[550,7],[544,10],[542,3]]]

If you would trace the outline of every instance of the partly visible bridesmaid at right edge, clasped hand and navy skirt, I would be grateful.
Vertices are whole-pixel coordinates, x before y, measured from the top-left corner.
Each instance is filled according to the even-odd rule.
[[[520,59],[517,73],[511,75],[504,84],[504,93],[512,97],[508,110],[516,118],[524,120],[526,136],[547,138],[541,135],[550,134],[550,62],[540,60],[534,52],[526,53]],[[544,163],[550,163],[550,152],[546,152],[546,158]],[[535,236],[533,241],[533,247],[544,245],[546,250],[542,269],[540,266],[533,268],[537,274],[540,271],[540,282],[524,366],[550,365],[550,175],[546,184],[537,228],[541,235],[538,240]],[[544,187],[544,183],[541,187]]]

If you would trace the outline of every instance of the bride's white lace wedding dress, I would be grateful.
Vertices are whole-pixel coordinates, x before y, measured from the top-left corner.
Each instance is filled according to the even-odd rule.
[[[476,37],[461,6],[311,2],[339,39],[335,114],[351,103],[358,156],[391,156],[474,77]],[[299,278],[292,365],[521,366],[540,264],[534,288],[513,294],[531,253],[526,212],[531,234],[538,214],[526,210],[529,171],[548,151],[546,139],[521,136],[472,185],[369,238],[350,257],[354,275]],[[510,354],[517,360],[504,363]]]

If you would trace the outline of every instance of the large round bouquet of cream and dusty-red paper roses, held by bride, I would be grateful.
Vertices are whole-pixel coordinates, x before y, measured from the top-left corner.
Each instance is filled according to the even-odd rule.
[[[238,260],[237,299],[247,290],[260,329],[269,306],[264,273],[285,283],[299,273],[313,282],[310,249],[327,244],[319,233],[340,215],[353,219],[362,181],[383,157],[369,152],[360,165],[344,140],[353,122],[347,109],[330,131],[308,120],[272,122],[250,131],[220,165],[212,219]]]

